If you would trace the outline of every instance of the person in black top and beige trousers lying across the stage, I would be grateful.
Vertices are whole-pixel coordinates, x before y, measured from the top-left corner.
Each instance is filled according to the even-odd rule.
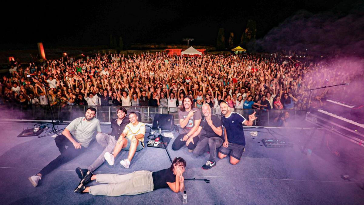
[[[185,189],[183,173],[186,161],[180,157],[174,158],[171,167],[156,172],[134,171],[133,173],[119,174],[89,174],[83,178],[74,192],[89,193],[94,196],[122,196],[137,195],[161,188],[170,188],[173,192],[183,192]],[[92,180],[102,185],[86,186]]]

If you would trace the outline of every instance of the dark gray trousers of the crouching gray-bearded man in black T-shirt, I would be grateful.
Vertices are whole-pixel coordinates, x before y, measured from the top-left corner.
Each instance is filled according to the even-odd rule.
[[[204,152],[209,151],[210,152],[210,161],[215,162],[216,157],[216,148],[219,148],[223,143],[223,140],[219,137],[211,137],[203,138],[202,140],[197,143],[196,148],[193,150],[193,155],[199,156],[202,155]]]

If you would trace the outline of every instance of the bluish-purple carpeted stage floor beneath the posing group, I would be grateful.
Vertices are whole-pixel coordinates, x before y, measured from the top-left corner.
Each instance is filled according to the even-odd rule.
[[[170,189],[120,197],[73,193],[80,181],[75,168],[86,168],[102,152],[96,142],[82,155],[45,176],[38,187],[33,187],[28,177],[59,155],[52,137],[16,137],[22,128],[33,125],[2,123],[0,127],[1,204],[182,204],[182,193]],[[111,128],[102,126],[102,130],[109,133]],[[259,131],[258,136],[250,136],[250,131]],[[361,173],[363,176],[363,160],[347,162],[343,156],[332,154],[330,146],[334,142],[327,143],[321,131],[308,143],[312,153],[302,153],[309,132],[307,129],[246,128],[246,151],[241,162],[233,166],[228,159],[217,158],[217,166],[210,170],[201,169],[208,159],[207,153],[197,158],[186,147],[173,151],[174,139],[167,149],[172,159],[180,156],[186,160],[185,178],[210,180],[210,183],[185,181],[188,204],[362,204],[364,191],[355,181],[345,181],[340,175]],[[262,139],[274,137],[290,140],[294,145],[292,148],[262,146]],[[347,142],[346,148],[358,149],[363,154],[363,147],[353,143]],[[137,152],[129,169],[119,164],[126,156],[126,152],[121,152],[114,166],[104,163],[95,173],[125,174],[170,166],[165,150],[159,148],[146,147]]]

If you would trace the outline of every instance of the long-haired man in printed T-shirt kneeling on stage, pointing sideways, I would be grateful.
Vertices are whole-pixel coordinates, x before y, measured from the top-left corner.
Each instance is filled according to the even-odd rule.
[[[182,100],[181,111],[179,111],[179,125],[183,133],[178,135],[172,144],[172,150],[179,150],[184,144],[193,150],[198,142],[198,137],[192,137],[201,123],[201,112],[194,108],[192,97],[186,95]],[[197,136],[197,135],[195,135]]]

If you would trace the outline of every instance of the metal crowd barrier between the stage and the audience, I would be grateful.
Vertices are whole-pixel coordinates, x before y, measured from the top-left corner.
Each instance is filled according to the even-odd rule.
[[[17,119],[17,120],[56,120],[56,121],[72,121],[77,117],[84,116],[86,109],[89,106],[49,106],[49,105],[29,105],[21,106],[19,104],[2,104],[1,109],[1,119]],[[112,119],[116,118],[116,112],[119,107],[111,106],[94,106],[97,110],[96,118],[102,123],[110,123]],[[152,123],[154,115],[156,113],[160,114],[171,114],[174,115],[175,124],[179,124],[177,107],[124,107],[129,112],[134,111],[140,113],[139,121],[143,123]],[[200,109],[202,113],[202,108]],[[292,121],[302,121],[304,124],[305,111],[296,110],[270,110],[269,112],[257,109],[234,109],[233,112],[240,113],[246,119],[248,115],[256,111],[257,120],[254,121],[254,126],[277,126],[274,119],[288,111],[290,113],[289,120]],[[221,116],[221,111],[219,109],[211,109],[213,115]],[[138,114],[139,115],[139,114]],[[296,125],[297,127],[297,125]],[[302,125],[302,127],[306,127]]]

